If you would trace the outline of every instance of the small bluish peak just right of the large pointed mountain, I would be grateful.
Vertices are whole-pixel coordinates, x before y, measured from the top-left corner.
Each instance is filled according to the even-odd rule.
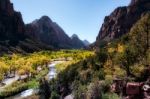
[[[78,48],[85,47],[85,45],[82,42],[82,40],[80,40],[79,37],[76,34],[73,34],[71,36],[71,40],[72,40],[72,44],[73,44],[74,48],[78,49]]]

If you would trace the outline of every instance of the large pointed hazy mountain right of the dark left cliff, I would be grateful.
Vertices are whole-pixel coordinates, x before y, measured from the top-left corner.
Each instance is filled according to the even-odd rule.
[[[40,19],[27,24],[26,33],[54,48],[72,48],[69,36],[48,16],[42,16]]]

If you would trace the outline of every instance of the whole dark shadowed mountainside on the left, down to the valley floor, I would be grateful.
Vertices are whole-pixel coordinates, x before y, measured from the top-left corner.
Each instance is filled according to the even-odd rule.
[[[33,52],[49,49],[25,34],[25,25],[20,12],[16,12],[10,0],[0,0],[0,54]]]

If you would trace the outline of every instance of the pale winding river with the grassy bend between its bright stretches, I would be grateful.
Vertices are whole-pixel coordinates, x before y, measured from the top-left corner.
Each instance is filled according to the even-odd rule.
[[[53,62],[51,62],[48,65],[48,68],[47,68],[48,72],[45,71],[45,73],[43,73],[43,75],[40,74],[40,75],[42,75],[41,77],[36,77],[36,78],[40,79],[42,77],[46,77],[47,80],[53,79],[57,75],[55,66],[57,64],[60,64],[60,63],[63,63],[63,62],[65,62],[65,61],[53,61]],[[43,71],[41,71],[41,72],[43,72]],[[39,83],[35,79],[29,81],[27,83],[27,86],[26,86],[25,89],[22,88],[22,90],[14,93],[14,94],[10,94],[10,95],[4,96],[4,97],[7,97],[6,99],[22,99],[22,98],[26,98],[26,97],[32,96],[34,94],[37,94],[38,93]],[[9,97],[9,96],[11,96],[11,97]]]

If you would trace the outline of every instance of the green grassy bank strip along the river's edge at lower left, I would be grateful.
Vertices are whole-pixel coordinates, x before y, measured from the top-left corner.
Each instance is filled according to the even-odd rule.
[[[48,73],[48,69],[44,69],[39,72],[34,78],[29,78],[27,82],[25,81],[15,81],[12,84],[3,88],[3,91],[0,92],[0,99],[14,96],[18,93],[21,93],[28,89],[36,89],[39,86],[38,80],[43,78]],[[11,98],[10,98],[11,99]]]

